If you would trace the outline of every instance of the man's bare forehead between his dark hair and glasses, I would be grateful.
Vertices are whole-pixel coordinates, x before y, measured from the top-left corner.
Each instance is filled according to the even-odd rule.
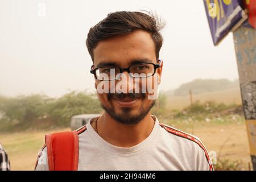
[[[127,66],[131,60],[156,61],[154,41],[150,33],[142,30],[100,41],[93,50],[93,55],[96,67],[104,62]]]

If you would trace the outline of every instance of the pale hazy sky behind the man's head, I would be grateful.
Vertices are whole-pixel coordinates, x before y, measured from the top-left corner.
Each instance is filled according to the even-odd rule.
[[[121,10],[152,10],[167,23],[160,89],[195,78],[238,78],[233,36],[213,46],[203,0],[0,0],[0,94],[93,91],[86,36],[108,13]]]

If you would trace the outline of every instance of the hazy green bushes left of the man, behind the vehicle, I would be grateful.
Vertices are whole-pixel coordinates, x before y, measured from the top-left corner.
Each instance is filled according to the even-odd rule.
[[[73,115],[100,113],[101,110],[96,95],[85,92],[71,92],[58,99],[40,94],[15,98],[1,96],[0,130],[10,130],[14,126],[36,127],[39,121],[52,121],[53,127],[69,126]]]

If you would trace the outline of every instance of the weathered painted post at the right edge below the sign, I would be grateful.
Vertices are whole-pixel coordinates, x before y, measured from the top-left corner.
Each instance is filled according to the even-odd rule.
[[[240,27],[233,32],[233,39],[251,162],[256,171],[256,30]]]

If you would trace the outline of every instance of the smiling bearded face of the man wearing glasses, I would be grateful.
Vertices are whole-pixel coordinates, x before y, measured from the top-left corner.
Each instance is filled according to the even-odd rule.
[[[94,68],[102,66],[127,68],[130,65],[136,65],[138,63],[157,63],[155,45],[151,35],[142,30],[102,40],[93,50],[93,55]],[[154,89],[156,84],[160,83],[161,73],[162,65],[156,69],[154,76],[146,78],[146,84],[142,84],[143,81],[145,82],[145,79],[131,78],[126,71],[123,74],[125,74],[127,79],[121,78],[120,80],[112,81],[112,84],[110,84],[110,81],[103,81],[105,84],[108,82],[109,93],[98,93],[102,108],[115,121],[124,124],[138,123],[146,116],[151,107],[154,106],[155,100],[149,99],[150,97],[148,96],[155,93],[148,93],[147,88]],[[157,79],[155,80],[155,78]],[[124,88],[127,88],[125,89],[125,93],[117,88],[117,84],[120,81],[122,81],[123,86],[126,86]],[[100,80],[96,80],[96,88],[98,88],[101,82]],[[110,89],[113,89],[113,86],[115,93],[110,93]],[[138,89],[139,93],[135,92]],[[142,89],[146,89],[147,92],[142,93]]]

